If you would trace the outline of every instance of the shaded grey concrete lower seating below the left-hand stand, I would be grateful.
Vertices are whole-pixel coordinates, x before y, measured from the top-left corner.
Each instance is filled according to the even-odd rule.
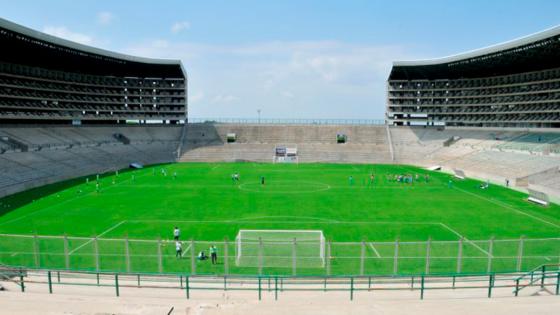
[[[182,126],[0,127],[29,147],[4,146],[0,196],[63,179],[126,168],[132,162],[174,162]],[[125,144],[114,137],[121,134]]]

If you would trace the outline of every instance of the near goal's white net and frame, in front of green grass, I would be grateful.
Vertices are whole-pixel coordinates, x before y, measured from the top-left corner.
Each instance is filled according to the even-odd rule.
[[[325,237],[319,230],[239,230],[235,257],[241,267],[321,268]]]

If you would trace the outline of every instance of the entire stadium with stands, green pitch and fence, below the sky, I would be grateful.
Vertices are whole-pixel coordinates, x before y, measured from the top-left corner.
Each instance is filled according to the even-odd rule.
[[[560,27],[395,61],[385,120],[189,118],[179,60],[4,19],[0,41],[0,267],[22,291],[558,294]]]

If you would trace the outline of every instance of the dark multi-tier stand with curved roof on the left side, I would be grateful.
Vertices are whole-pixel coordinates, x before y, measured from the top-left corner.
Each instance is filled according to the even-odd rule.
[[[187,119],[187,75],[179,60],[110,52],[4,19],[0,46],[0,123]]]

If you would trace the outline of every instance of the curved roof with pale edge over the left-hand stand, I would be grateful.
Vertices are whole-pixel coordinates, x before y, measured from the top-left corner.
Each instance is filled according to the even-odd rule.
[[[180,60],[136,57],[45,34],[0,18],[0,62],[93,75],[186,78]]]

